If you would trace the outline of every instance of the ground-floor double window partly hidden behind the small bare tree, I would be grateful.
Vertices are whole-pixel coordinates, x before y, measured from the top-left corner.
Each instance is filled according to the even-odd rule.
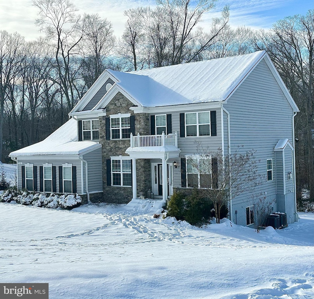
[[[212,188],[211,187],[211,159],[188,158],[187,163],[187,187]],[[195,167],[198,166],[199,170]]]

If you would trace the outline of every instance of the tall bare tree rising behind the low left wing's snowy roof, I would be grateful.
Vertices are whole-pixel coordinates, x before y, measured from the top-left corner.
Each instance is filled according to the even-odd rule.
[[[34,0],[33,4],[39,9],[36,25],[46,33],[47,40],[53,41],[59,84],[71,110],[79,98],[73,75],[78,74],[77,67],[81,66],[71,58],[80,52],[86,19],[76,14],[78,9],[68,0]]]

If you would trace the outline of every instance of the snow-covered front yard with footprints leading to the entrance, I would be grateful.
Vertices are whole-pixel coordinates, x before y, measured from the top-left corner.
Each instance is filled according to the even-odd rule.
[[[155,219],[157,209],[2,203],[0,281],[48,282],[51,299],[314,297],[314,214],[257,234]]]

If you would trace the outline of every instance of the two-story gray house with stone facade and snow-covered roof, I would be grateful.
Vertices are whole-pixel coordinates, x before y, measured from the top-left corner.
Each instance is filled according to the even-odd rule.
[[[44,141],[10,153],[19,188],[127,203],[150,189],[202,188],[189,165],[195,140],[232,153],[257,150],[260,191],[296,220],[294,116],[298,112],[265,51],[133,72],[106,70]],[[142,192],[142,193],[140,193]],[[249,194],[230,199],[230,218],[251,225]],[[235,217],[237,215],[237,217]]]

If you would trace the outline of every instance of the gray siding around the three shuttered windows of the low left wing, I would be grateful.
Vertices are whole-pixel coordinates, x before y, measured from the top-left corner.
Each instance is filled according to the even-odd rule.
[[[57,193],[59,192],[59,166],[62,166],[64,163],[71,163],[72,166],[76,166],[76,190],[77,193],[81,192],[81,161],[78,159],[67,159],[67,160],[35,160],[34,159],[23,159],[18,158],[18,162],[23,162],[23,164],[18,165],[18,187],[22,188],[22,166],[24,163],[31,163],[34,166],[37,166],[37,190],[39,192],[39,166],[43,166],[45,163],[52,164],[52,166],[56,166],[56,185],[57,185]]]

